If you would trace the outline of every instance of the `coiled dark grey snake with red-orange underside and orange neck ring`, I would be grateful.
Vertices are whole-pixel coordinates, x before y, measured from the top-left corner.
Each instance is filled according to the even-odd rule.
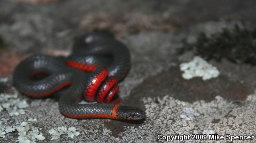
[[[141,120],[138,107],[118,104],[119,83],[128,74],[128,48],[105,33],[76,36],[68,57],[32,55],[13,72],[13,86],[30,98],[49,97],[64,90],[59,111],[69,118]],[[80,103],[84,99],[87,103]]]

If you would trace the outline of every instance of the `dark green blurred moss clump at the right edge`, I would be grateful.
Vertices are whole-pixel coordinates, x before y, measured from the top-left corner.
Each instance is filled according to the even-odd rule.
[[[222,29],[221,32],[207,37],[201,33],[196,43],[189,44],[183,40],[184,46],[179,54],[193,50],[195,55],[205,60],[221,61],[226,58],[233,63],[248,63],[256,65],[256,29],[249,30],[238,25],[234,29]]]

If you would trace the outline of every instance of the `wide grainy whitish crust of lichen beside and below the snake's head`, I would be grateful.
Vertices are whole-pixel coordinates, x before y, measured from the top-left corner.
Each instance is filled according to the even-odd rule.
[[[256,95],[248,96],[247,100],[241,101],[239,105],[220,96],[207,103],[203,100],[188,103],[169,96],[145,98],[143,102],[147,118],[139,126],[128,125],[124,132],[113,136],[113,132],[107,127],[88,121],[90,125],[86,124],[86,128],[81,132],[86,139],[77,141],[83,143],[154,143],[158,142],[158,134],[255,135],[256,132],[256,112],[254,112],[256,111]],[[185,118],[181,118],[183,116]],[[173,142],[180,143],[181,141],[174,140]],[[184,142],[194,143],[195,140]],[[211,141],[202,140],[202,142]]]

